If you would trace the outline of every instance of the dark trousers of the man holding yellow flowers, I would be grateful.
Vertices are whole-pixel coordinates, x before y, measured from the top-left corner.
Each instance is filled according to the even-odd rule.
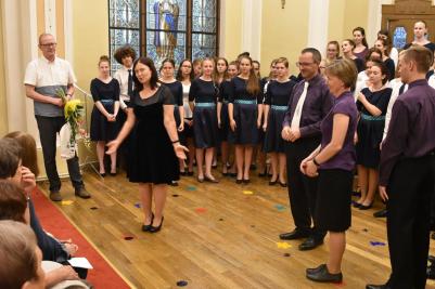
[[[42,145],[43,165],[46,167],[47,176],[50,181],[50,192],[59,192],[61,189],[61,179],[59,178],[55,161],[56,156],[56,134],[65,124],[64,117],[41,117],[35,116],[38,123],[39,137]],[[77,155],[67,160],[69,179],[75,188],[84,186],[81,180],[80,168],[78,166]]]

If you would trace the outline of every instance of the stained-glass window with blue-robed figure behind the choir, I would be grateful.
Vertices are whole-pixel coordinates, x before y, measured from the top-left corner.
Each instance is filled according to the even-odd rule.
[[[179,64],[218,55],[219,0],[108,0],[112,70],[115,50],[130,44],[138,55]]]

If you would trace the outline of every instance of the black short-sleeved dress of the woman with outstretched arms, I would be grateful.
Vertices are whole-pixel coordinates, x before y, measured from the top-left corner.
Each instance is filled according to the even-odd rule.
[[[178,158],[164,124],[164,105],[174,105],[165,86],[142,100],[135,91],[130,106],[136,116],[128,178],[132,183],[167,184],[180,179]]]

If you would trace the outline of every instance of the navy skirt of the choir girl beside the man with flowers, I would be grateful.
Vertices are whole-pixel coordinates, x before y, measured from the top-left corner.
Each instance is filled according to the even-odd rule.
[[[113,102],[101,102],[101,104],[108,114],[114,113]],[[107,121],[107,118],[94,105],[91,114],[91,141],[108,142],[115,140],[118,132],[119,123],[117,121]]]

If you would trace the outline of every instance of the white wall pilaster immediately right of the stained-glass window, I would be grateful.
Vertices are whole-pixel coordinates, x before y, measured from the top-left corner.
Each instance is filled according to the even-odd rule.
[[[261,0],[243,0],[242,51],[261,62]]]

